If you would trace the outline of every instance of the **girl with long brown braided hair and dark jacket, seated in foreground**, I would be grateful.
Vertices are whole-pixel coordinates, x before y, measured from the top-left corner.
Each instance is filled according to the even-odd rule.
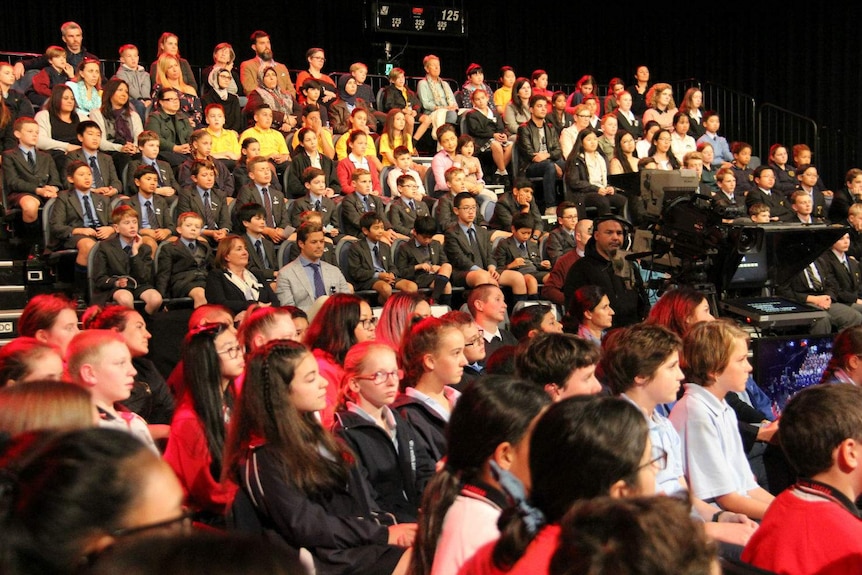
[[[275,340],[252,352],[227,476],[268,532],[311,553],[317,573],[404,573],[416,526],[379,513],[354,454],[321,426],[326,387],[302,344]]]

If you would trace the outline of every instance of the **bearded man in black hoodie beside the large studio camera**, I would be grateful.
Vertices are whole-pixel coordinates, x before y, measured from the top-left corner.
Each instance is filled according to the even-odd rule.
[[[584,257],[575,262],[563,285],[567,302],[582,286],[601,287],[615,312],[615,328],[638,323],[649,311],[649,300],[638,266],[626,260],[626,253],[620,250],[624,225],[628,226],[628,222],[617,216],[597,218],[593,237],[584,248]]]

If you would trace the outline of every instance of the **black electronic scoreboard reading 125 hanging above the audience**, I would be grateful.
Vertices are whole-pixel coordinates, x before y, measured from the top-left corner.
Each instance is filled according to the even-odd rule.
[[[377,32],[467,36],[467,13],[460,8],[375,2],[373,11]]]

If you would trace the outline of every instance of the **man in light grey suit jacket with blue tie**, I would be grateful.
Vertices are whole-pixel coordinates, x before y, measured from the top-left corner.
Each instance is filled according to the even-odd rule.
[[[281,305],[308,312],[314,302],[333,293],[353,293],[337,267],[323,261],[326,247],[323,226],[305,222],[296,230],[299,257],[278,271],[275,293]]]

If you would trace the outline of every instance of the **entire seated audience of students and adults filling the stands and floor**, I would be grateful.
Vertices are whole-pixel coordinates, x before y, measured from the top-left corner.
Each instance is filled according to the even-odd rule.
[[[396,68],[378,110],[363,65],[332,80],[312,48],[294,84],[255,32],[239,74],[216,47],[204,107],[175,35],[153,78],[129,44],[102,84],[90,56],[63,80],[83,50],[79,26],[63,32],[44,60],[0,63],[18,233],[46,218],[92,304],[81,330],[78,302],[36,296],[0,350],[4,573],[165,572],[173,545],[248,572],[858,568],[862,300],[842,257],[862,245],[858,170],[833,194],[810,151],[793,149],[794,171],[773,146],[749,178],[751,146],[717,135],[696,89],[677,111],[645,67],[601,103],[594,79],[566,97],[541,70],[504,68],[491,93],[477,64],[453,92],[428,56],[416,93]],[[29,114],[4,78],[40,64],[46,107]],[[413,143],[426,134],[430,166]],[[680,165],[708,194],[715,171],[727,220],[750,203],[752,218],[852,226],[823,256],[849,262],[849,287],[823,258],[791,286],[842,331],[824,385],[782,414],[751,378],[746,331],[690,288],[650,302],[622,258],[625,198],[607,176]],[[454,290],[466,311],[435,311]],[[160,370],[148,328],[181,298],[181,357]]]

